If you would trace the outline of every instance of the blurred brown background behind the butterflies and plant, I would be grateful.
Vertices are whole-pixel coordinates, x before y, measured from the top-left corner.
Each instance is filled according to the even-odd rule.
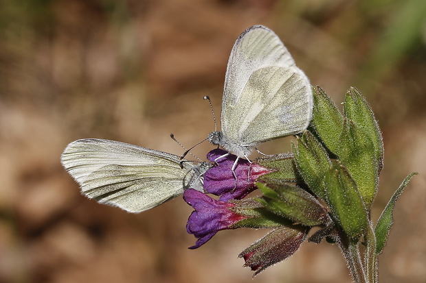
[[[412,171],[380,256],[381,282],[426,282],[426,1],[0,1],[0,282],[350,282],[337,247],[304,243],[251,280],[237,255],[266,231],[219,232],[197,250],[181,198],[128,214],[82,197],[60,165],[78,138],[180,154],[220,116],[227,58],[273,29],[336,103],[349,86],[383,131],[372,217]],[[291,138],[262,150],[289,149]],[[194,153],[203,158],[212,145]]]

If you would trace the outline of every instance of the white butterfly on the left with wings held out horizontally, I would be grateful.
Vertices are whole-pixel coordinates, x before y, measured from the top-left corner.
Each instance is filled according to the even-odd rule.
[[[95,138],[70,143],[61,162],[83,195],[128,212],[159,206],[186,188],[203,191],[202,175],[212,166],[194,166],[170,153]]]

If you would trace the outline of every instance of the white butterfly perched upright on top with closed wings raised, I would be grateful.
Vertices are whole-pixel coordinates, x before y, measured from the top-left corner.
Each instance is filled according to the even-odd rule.
[[[238,158],[247,158],[260,143],[305,130],[312,108],[308,77],[295,66],[271,29],[255,25],[246,29],[232,48],[221,132],[210,133],[208,140]]]

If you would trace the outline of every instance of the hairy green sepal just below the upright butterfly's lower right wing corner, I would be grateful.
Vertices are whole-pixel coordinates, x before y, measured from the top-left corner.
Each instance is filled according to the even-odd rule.
[[[325,199],[324,175],[331,166],[326,149],[309,131],[305,131],[297,140],[297,149],[293,143],[295,164],[309,188],[322,199]]]

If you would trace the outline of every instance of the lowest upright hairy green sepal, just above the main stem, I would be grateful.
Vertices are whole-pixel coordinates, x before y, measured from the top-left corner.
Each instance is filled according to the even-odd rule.
[[[368,213],[357,184],[339,162],[334,162],[324,178],[326,202],[333,217],[349,238],[358,240],[366,231]]]

